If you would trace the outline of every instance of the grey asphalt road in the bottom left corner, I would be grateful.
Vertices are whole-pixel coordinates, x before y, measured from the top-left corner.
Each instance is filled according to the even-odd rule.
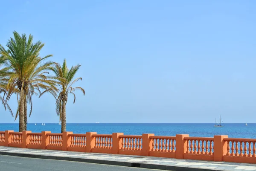
[[[0,171],[153,171],[153,169],[0,155]]]

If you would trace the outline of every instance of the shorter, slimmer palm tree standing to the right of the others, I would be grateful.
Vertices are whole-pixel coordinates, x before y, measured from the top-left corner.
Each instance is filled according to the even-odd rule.
[[[76,72],[79,70],[81,65],[72,66],[70,70],[67,68],[66,59],[64,59],[62,66],[60,64],[55,64],[55,67],[52,67],[52,71],[55,74],[55,79],[58,80],[58,96],[56,98],[56,113],[60,117],[61,121],[61,133],[66,131],[66,104],[68,94],[72,94],[74,96],[73,103],[76,102],[76,90],[81,90],[85,95],[85,91],[81,87],[72,87],[74,83],[79,80],[82,80],[81,77],[73,79],[76,75]],[[48,90],[44,91],[42,94],[47,92]],[[52,92],[50,92],[52,93]],[[41,95],[42,95],[41,94]],[[55,94],[55,93],[52,93]],[[40,96],[41,96],[40,95]]]

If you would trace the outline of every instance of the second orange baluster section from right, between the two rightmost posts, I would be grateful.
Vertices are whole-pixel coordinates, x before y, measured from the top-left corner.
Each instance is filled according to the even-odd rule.
[[[214,160],[213,140],[208,137],[185,137],[186,154],[184,159]]]

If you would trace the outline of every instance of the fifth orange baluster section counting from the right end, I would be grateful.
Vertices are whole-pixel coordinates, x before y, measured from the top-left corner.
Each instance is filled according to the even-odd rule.
[[[112,135],[111,134],[96,134],[95,146],[92,148],[94,153],[111,153],[112,148]]]

